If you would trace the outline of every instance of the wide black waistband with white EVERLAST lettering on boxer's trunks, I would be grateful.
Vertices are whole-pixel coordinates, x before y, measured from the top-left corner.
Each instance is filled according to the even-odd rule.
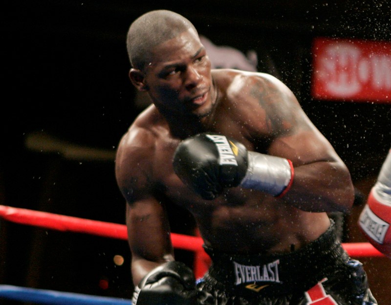
[[[276,296],[306,291],[327,272],[345,268],[348,254],[337,240],[333,222],[317,240],[287,254],[237,255],[204,246],[212,265],[205,284],[235,295]]]

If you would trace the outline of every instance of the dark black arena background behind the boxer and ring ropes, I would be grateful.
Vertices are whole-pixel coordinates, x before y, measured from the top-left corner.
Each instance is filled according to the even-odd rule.
[[[141,111],[128,79],[126,32],[139,15],[161,8],[184,15],[217,45],[255,50],[258,69],[293,90],[348,165],[365,199],[390,149],[391,103],[312,99],[311,44],[316,37],[389,41],[388,1],[162,3],[35,0],[2,5],[0,199],[4,205],[124,223],[125,204],[110,155]],[[61,142],[49,152],[52,142],[44,136]],[[70,155],[64,153],[69,147]],[[109,157],[87,158],[75,154],[75,147],[93,148]],[[173,210],[173,215],[174,232],[193,233],[194,223],[184,211]],[[355,217],[354,212],[347,216],[351,226],[347,241],[360,241]],[[7,221],[0,225],[1,283],[130,298],[125,240]],[[125,258],[122,266],[113,263],[116,254]],[[177,251],[177,258],[192,263],[189,253]],[[389,268],[390,261],[366,263],[372,290],[384,299],[378,301],[391,304],[376,282],[379,277],[386,281],[377,274]],[[107,289],[99,285],[101,280],[109,284]]]

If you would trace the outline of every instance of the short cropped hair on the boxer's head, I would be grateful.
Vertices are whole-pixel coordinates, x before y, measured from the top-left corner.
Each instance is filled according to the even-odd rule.
[[[183,16],[168,10],[154,10],[131,23],[127,36],[127,50],[133,68],[142,70],[150,60],[152,48],[194,25]],[[195,30],[195,32],[197,32]]]

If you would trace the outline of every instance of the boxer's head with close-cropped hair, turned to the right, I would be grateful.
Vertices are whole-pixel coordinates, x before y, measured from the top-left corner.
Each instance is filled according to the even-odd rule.
[[[171,11],[135,20],[128,31],[130,80],[162,111],[203,117],[215,103],[211,63],[194,25]]]

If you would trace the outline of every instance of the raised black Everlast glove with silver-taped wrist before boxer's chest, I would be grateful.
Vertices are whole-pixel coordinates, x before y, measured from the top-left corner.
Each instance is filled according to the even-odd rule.
[[[187,186],[209,200],[235,186],[282,196],[293,180],[289,160],[249,152],[238,141],[211,133],[182,141],[174,153],[173,167]]]

